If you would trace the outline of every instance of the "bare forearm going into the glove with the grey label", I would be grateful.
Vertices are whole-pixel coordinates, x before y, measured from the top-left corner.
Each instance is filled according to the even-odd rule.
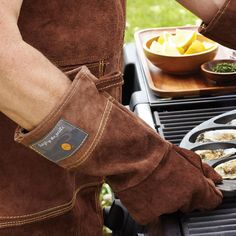
[[[31,130],[52,110],[70,80],[20,37],[5,37],[0,55],[0,111]]]

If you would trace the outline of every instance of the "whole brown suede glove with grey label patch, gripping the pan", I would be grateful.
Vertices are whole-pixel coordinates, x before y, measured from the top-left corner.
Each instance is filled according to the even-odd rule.
[[[86,179],[104,178],[131,215],[147,224],[177,210],[212,209],[220,177],[200,158],[161,139],[104,90],[86,67],[55,109],[16,141]]]

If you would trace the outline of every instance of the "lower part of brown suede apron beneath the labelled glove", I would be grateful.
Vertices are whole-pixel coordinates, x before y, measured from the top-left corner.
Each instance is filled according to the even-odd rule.
[[[0,235],[101,235],[102,178],[67,172],[18,145],[16,125],[3,115],[0,126]]]

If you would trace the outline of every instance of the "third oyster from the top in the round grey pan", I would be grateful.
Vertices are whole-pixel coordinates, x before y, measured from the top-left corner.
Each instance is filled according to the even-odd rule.
[[[219,158],[230,157],[236,153],[236,148],[196,150],[195,153],[197,153],[202,160],[210,161],[210,160],[217,160]]]

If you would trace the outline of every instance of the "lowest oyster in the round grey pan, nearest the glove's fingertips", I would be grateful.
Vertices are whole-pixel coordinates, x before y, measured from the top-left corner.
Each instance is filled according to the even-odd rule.
[[[236,179],[236,159],[224,162],[214,169],[223,179]]]

